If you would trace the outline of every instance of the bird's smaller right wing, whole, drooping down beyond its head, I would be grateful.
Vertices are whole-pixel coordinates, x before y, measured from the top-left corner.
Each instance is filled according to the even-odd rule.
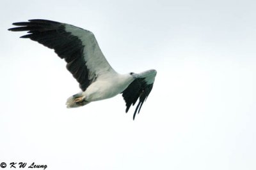
[[[137,111],[138,113],[140,113],[142,104],[147,99],[153,88],[154,80],[156,77],[156,70],[151,69],[143,73],[136,74],[135,77],[135,80],[132,81],[132,83],[124,90],[124,92],[122,92],[122,96],[124,97],[126,103],[126,113],[131,105],[134,106],[134,104],[140,97],[139,103],[136,106],[133,114],[133,120],[136,116]]]

